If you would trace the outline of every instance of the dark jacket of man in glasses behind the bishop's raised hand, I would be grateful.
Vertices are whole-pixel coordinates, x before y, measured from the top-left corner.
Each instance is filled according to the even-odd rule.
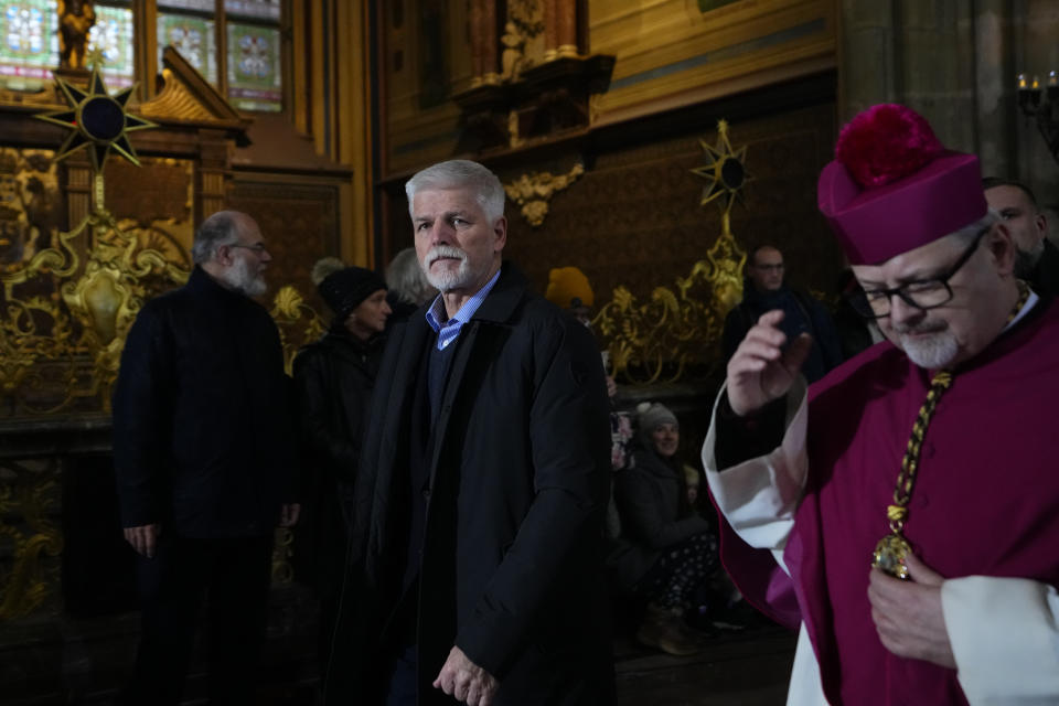
[[[780,329],[787,334],[788,341],[801,333],[813,336],[813,347],[802,364],[802,374],[806,381],[815,382],[842,363],[842,344],[831,314],[823,304],[809,295],[787,287],[777,291],[759,292],[749,280],[744,282],[742,301],[736,304],[725,319],[721,341],[725,360],[735,354],[747,331],[758,322],[761,314],[773,309],[783,310]]]

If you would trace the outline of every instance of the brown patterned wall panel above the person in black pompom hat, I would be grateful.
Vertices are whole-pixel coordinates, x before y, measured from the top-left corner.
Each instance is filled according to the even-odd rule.
[[[271,301],[291,285],[323,311],[309,272],[322,255],[339,254],[339,202],[334,186],[237,181],[229,207],[250,214],[272,256],[266,278]],[[264,299],[263,299],[264,301]]]

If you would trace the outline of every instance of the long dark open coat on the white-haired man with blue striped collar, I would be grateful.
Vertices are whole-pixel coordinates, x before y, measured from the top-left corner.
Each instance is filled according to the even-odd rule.
[[[329,704],[375,703],[386,678],[382,648],[395,628],[385,623],[402,598],[411,526],[410,416],[436,341],[424,311],[394,327],[379,370]],[[596,343],[505,263],[452,345],[425,453],[419,590],[405,593],[418,600],[419,703],[452,703],[430,682],[454,643],[498,677],[498,705],[609,704],[600,557],[610,438]]]

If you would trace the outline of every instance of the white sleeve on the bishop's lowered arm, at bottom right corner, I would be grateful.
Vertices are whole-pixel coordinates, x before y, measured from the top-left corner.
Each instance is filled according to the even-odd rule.
[[[966,576],[941,608],[971,706],[1059,704],[1059,593],[1030,579]]]

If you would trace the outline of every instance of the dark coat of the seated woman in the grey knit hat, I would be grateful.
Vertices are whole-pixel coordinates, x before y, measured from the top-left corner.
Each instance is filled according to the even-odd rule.
[[[683,471],[652,449],[635,452],[631,468],[614,474],[614,501],[621,516],[621,546],[608,564],[619,587],[631,590],[662,553],[710,530],[688,507]]]

